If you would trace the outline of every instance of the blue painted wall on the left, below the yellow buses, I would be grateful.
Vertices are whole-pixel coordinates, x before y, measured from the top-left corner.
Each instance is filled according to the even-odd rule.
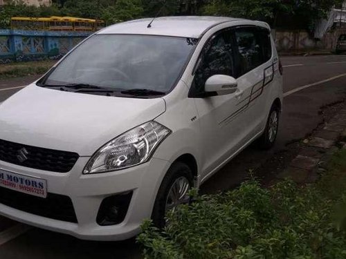
[[[0,30],[0,64],[59,59],[91,32]]]

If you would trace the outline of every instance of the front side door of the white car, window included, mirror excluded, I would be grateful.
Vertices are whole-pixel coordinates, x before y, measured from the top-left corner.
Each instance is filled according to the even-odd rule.
[[[209,77],[234,77],[236,69],[232,30],[218,32],[204,46],[190,88],[190,97],[194,98],[201,127],[202,181],[222,166],[242,142],[244,118],[237,116],[242,91],[228,95],[204,92]]]

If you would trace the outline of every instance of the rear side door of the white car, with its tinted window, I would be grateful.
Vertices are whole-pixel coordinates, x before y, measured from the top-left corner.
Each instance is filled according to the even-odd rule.
[[[242,26],[234,29],[235,55],[239,74],[238,88],[242,91],[239,108],[244,112],[242,140],[253,140],[261,133],[270,101],[268,88],[274,76],[271,61],[272,46],[270,31],[258,26]]]

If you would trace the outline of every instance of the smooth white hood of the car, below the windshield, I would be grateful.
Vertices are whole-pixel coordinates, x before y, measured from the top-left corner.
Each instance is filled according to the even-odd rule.
[[[0,104],[0,139],[90,156],[164,112],[162,98],[88,95],[31,84]]]

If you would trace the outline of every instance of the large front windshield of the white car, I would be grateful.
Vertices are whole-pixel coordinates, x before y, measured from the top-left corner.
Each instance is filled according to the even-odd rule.
[[[39,83],[167,93],[196,44],[196,39],[181,37],[95,35]]]

